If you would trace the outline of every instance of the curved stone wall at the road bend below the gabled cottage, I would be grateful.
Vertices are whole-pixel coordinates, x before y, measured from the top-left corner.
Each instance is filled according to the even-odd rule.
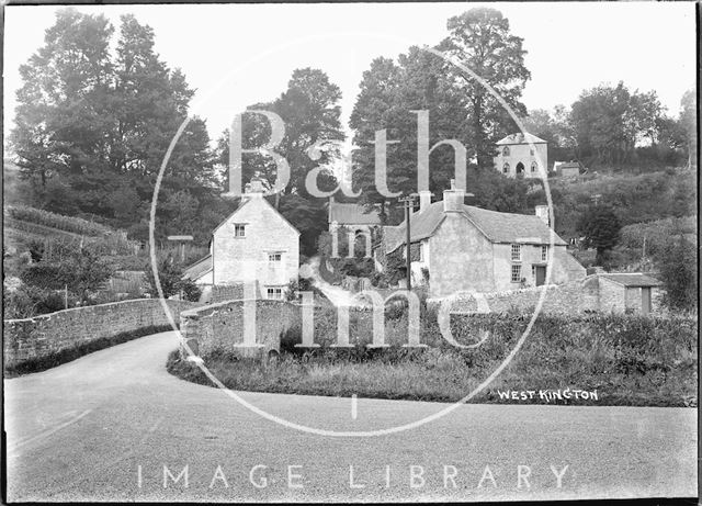
[[[256,344],[262,347],[242,346],[248,322],[252,322]],[[296,325],[302,325],[302,306],[286,301],[225,301],[180,314],[183,339],[199,356],[228,352],[262,357],[270,350],[280,351],[281,334]]]

